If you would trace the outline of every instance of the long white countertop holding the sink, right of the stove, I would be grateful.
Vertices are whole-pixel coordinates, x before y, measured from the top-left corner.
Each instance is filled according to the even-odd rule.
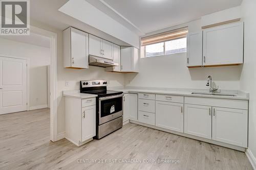
[[[156,94],[171,94],[171,95],[183,95],[183,96],[195,96],[195,97],[203,97],[203,98],[217,98],[217,99],[233,99],[233,100],[249,100],[249,94],[244,93],[237,90],[230,90],[230,92],[227,92],[228,90],[225,90],[223,93],[230,93],[235,94],[236,96],[223,96],[223,95],[207,95],[207,94],[191,94],[193,90],[162,90],[162,89],[143,89],[140,88],[112,88],[111,90],[118,90],[123,91],[124,93],[156,93]],[[194,90],[197,92],[200,92],[200,90]],[[234,91],[237,91],[236,93],[231,93]],[[206,91],[201,91],[206,92]]]

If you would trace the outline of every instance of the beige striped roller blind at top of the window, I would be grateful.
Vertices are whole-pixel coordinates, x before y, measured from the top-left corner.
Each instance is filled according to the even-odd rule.
[[[175,40],[179,38],[185,38],[187,36],[187,33],[188,33],[187,27],[183,27],[180,29],[172,30],[172,31],[167,31],[167,32],[163,32],[163,33],[159,33],[151,36],[142,37],[141,46]]]

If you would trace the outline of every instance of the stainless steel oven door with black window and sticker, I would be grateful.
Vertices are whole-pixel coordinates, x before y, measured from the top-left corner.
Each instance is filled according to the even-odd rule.
[[[99,98],[99,125],[123,115],[123,94]]]

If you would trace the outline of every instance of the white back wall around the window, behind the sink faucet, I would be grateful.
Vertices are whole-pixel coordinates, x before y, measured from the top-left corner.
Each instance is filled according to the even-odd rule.
[[[188,26],[189,32],[201,30],[201,20],[196,20],[158,32]],[[155,34],[154,32],[151,34]],[[187,68],[186,53],[141,58],[139,74],[125,75],[125,85],[165,88],[205,88],[210,75],[221,89],[240,89],[242,66]]]

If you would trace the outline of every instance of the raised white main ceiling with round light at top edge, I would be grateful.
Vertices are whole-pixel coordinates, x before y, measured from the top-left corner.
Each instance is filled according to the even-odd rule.
[[[89,1],[89,0],[87,0]],[[95,0],[94,0],[95,1]],[[241,5],[242,0],[98,0],[143,33]]]

